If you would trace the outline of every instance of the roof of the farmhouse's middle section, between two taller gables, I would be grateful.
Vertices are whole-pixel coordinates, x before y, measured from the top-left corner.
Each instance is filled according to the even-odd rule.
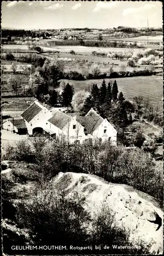
[[[53,116],[48,120],[53,125],[57,126],[60,129],[71,120],[71,116],[61,112],[60,110],[56,110],[53,112]]]

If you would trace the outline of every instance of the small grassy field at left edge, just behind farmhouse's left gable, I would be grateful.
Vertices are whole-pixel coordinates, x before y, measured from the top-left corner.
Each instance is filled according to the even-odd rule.
[[[3,102],[8,102],[2,105],[2,110],[3,112],[5,111],[5,115],[7,115],[7,112],[9,111],[23,111],[25,109],[27,109],[31,103],[27,103],[27,101],[29,102],[33,102],[34,101],[34,97],[20,97],[20,98],[3,98],[1,100],[1,104],[3,104]],[[6,112],[7,111],[7,112]],[[8,113],[10,115],[10,113]],[[16,113],[14,113],[15,115]]]

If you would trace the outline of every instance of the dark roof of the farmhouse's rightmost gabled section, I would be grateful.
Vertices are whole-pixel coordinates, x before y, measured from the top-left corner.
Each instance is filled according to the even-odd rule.
[[[85,127],[86,133],[92,134],[104,119],[91,109],[86,116],[76,117],[76,120]]]

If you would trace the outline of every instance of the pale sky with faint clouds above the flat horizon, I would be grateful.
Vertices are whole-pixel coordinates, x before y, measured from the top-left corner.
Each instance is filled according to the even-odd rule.
[[[2,28],[162,27],[160,1],[2,1]]]

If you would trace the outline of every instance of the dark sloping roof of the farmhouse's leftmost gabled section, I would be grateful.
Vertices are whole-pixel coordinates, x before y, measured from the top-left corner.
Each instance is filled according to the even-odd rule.
[[[39,112],[42,110],[40,106],[38,106],[35,102],[26,109],[21,116],[24,118],[25,121],[30,122]]]

